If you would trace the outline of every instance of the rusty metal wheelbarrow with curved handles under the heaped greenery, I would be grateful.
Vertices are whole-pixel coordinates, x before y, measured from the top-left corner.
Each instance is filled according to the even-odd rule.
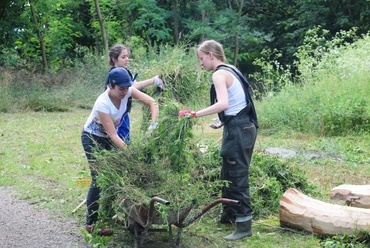
[[[227,205],[236,205],[239,206],[240,202],[228,198],[218,198],[212,203],[208,204],[207,206],[203,207],[199,212],[194,214],[193,216],[188,217],[189,213],[193,209],[193,206],[189,206],[186,208],[182,208],[178,211],[169,212],[167,215],[167,229],[153,229],[152,224],[165,224],[163,218],[161,218],[158,211],[155,210],[155,203],[161,203],[164,205],[170,205],[170,202],[160,198],[160,197],[153,197],[150,200],[149,207],[145,204],[136,204],[135,202],[124,199],[121,204],[124,206],[124,212],[127,217],[127,226],[131,233],[134,234],[134,247],[138,248],[143,244],[144,236],[148,235],[148,232],[165,232],[168,231],[169,233],[169,240],[172,241],[173,234],[172,234],[172,225],[178,228],[177,237],[175,242],[175,246],[179,246],[180,244],[180,237],[184,227],[191,225],[194,221],[199,219],[203,214],[208,212],[211,208],[216,206],[217,204],[227,204]],[[139,244],[141,235],[141,241]]]

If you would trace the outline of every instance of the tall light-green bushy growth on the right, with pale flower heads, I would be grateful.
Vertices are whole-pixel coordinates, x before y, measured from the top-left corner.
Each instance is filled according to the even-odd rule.
[[[368,132],[370,127],[370,37],[354,43],[351,33],[326,40],[313,32],[300,48],[297,83],[263,99],[262,128],[293,129],[317,135]]]

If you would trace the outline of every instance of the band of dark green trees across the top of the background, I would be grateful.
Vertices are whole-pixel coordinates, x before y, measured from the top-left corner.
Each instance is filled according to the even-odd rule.
[[[227,47],[230,63],[250,73],[259,71],[252,62],[264,49],[278,50],[279,61],[292,64],[305,33],[316,26],[329,37],[353,27],[366,33],[369,13],[367,0],[4,0],[0,66],[56,73],[75,67],[81,50],[106,55],[106,43],[140,37],[149,48],[213,38]]]

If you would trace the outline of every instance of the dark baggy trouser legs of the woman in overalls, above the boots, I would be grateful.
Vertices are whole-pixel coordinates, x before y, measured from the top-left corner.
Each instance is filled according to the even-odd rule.
[[[257,128],[246,113],[229,117],[224,125],[221,179],[229,181],[222,188],[222,197],[240,201],[240,206],[223,205],[224,211],[234,217],[252,216],[249,191],[249,166]]]

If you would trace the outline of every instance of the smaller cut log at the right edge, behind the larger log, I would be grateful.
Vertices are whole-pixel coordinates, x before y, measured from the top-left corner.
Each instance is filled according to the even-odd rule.
[[[370,185],[339,185],[330,191],[330,198],[345,201],[348,206],[370,208]]]

